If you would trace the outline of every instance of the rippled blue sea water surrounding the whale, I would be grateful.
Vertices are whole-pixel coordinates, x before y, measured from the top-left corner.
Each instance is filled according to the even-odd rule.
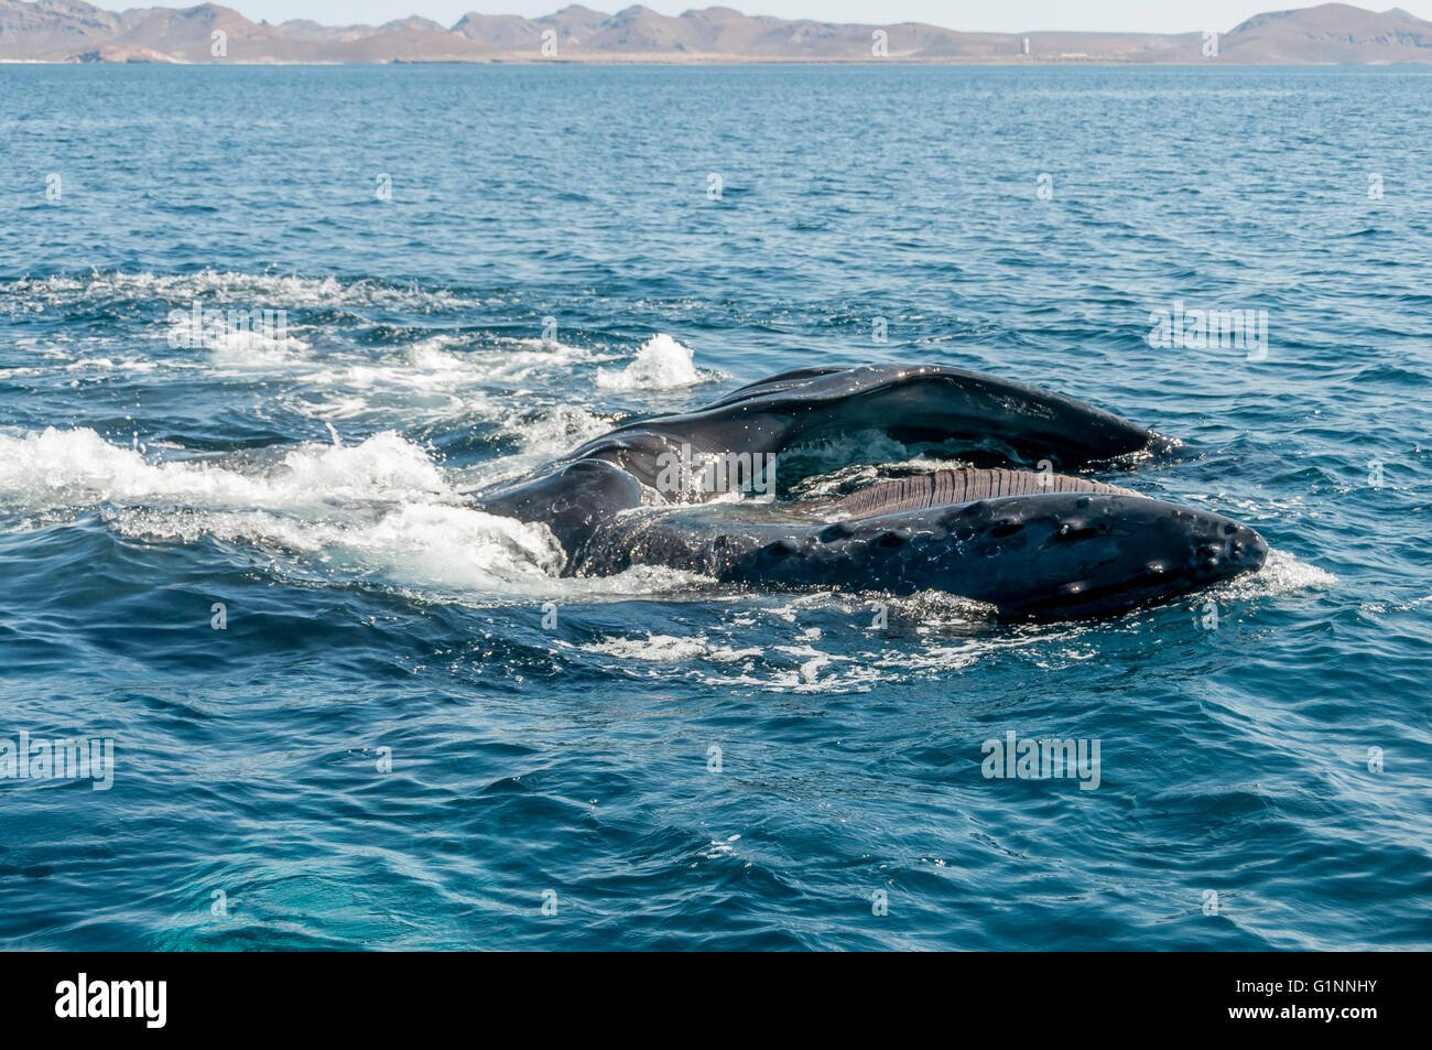
[[[0,944],[1432,947],[1429,102],[1400,67],[0,66],[0,739],[116,749],[107,789],[0,779]],[[195,304],[286,329],[196,339]],[[1266,352],[1154,345],[1176,304],[1266,311]],[[1126,483],[1269,564],[875,626],[557,579],[464,506],[863,361],[1194,443]],[[928,466],[818,451],[813,490]],[[1098,786],[985,778],[1010,732],[1097,742]]]

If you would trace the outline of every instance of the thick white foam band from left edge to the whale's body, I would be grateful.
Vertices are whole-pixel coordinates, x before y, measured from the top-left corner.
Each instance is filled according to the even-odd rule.
[[[0,434],[0,506],[95,509],[125,534],[318,554],[296,567],[444,593],[551,592],[564,560],[544,526],[464,506],[428,454],[391,431],[266,466],[156,463],[86,428]]]

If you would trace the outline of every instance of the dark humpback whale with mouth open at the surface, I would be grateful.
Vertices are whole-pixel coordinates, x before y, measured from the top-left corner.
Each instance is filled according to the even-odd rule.
[[[733,498],[759,487],[770,457],[863,431],[932,443],[969,466],[841,497]],[[471,500],[543,523],[569,576],[662,564],[739,584],[944,590],[1005,616],[1073,617],[1167,600],[1263,564],[1267,544],[1246,526],[1065,473],[1179,445],[981,372],[800,368],[692,413],[626,423]],[[788,493],[792,480],[782,477]]]

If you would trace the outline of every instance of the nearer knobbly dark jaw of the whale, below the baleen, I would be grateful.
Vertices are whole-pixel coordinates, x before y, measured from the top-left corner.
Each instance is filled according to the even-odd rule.
[[[1106,487],[1108,488],[1108,487]],[[856,494],[859,496],[859,494]],[[878,494],[872,497],[881,506]],[[1121,490],[974,500],[869,517],[762,521],[759,509],[637,511],[604,527],[576,572],[690,569],[727,583],[909,594],[942,590],[1004,616],[1080,617],[1167,602],[1256,572],[1250,529]],[[785,520],[779,520],[785,517]]]

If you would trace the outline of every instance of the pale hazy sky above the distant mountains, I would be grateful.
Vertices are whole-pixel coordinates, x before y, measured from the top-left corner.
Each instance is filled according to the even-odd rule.
[[[96,0],[102,7],[140,7],[130,0]],[[467,11],[484,14],[551,14],[569,0],[219,0],[242,14],[269,21],[312,19],[329,26],[368,21],[381,23],[407,14],[422,14],[451,26]],[[198,0],[165,0],[183,7]],[[629,0],[603,3],[587,0],[587,7],[616,11]],[[1144,33],[1187,33],[1216,29],[1226,32],[1250,14],[1289,7],[1310,7],[1299,0],[646,0],[646,7],[662,14],[680,14],[692,7],[725,6],[746,14],[775,14],[782,19],[819,19],[822,21],[928,21],[945,29],[974,32],[1021,32],[1034,29],[1128,30]],[[1378,10],[1400,6],[1418,17],[1432,19],[1432,0],[1382,0],[1369,4]]]

